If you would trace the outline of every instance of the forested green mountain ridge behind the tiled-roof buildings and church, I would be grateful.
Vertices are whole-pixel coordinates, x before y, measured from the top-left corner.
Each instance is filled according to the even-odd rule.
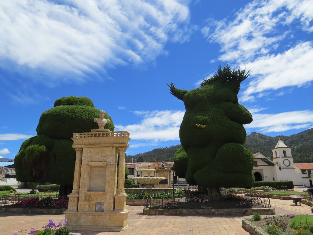
[[[313,163],[313,128],[290,136],[281,135],[280,140],[284,142],[286,146],[291,147],[291,153],[295,163]],[[253,154],[261,153],[265,157],[273,159],[272,149],[277,142],[278,136],[271,137],[252,132],[247,136],[244,146],[250,149]],[[173,161],[174,153],[179,147],[180,144],[166,148],[153,149],[146,153],[127,155],[126,162],[131,162],[132,158],[134,162],[136,162],[135,159],[139,159],[140,157],[144,162],[168,161],[168,151],[170,151],[169,161]]]

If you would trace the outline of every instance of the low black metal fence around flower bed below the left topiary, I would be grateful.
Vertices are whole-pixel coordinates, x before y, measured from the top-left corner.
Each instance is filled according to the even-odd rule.
[[[67,197],[59,197],[59,191],[37,192],[36,194],[25,192],[0,194],[0,207],[8,205],[54,206],[56,202],[58,202],[58,205],[62,204],[64,206],[68,203],[66,200],[68,200]]]

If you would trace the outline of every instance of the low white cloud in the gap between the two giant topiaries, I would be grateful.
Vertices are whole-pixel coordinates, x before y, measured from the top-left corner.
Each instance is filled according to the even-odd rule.
[[[167,141],[179,140],[179,128],[183,111],[138,111],[143,119],[140,123],[127,126],[115,125],[115,130],[127,130],[131,133],[132,140]]]

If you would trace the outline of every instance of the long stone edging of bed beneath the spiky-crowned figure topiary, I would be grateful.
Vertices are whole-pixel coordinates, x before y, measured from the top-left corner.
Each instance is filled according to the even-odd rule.
[[[275,215],[275,208],[230,208],[230,209],[149,209],[142,210],[143,215]]]

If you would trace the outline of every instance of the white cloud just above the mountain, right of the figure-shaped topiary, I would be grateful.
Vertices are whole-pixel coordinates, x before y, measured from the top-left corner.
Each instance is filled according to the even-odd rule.
[[[276,114],[254,113],[253,122],[245,128],[257,129],[261,133],[283,132],[292,129],[310,128],[313,125],[313,111],[291,111]]]

